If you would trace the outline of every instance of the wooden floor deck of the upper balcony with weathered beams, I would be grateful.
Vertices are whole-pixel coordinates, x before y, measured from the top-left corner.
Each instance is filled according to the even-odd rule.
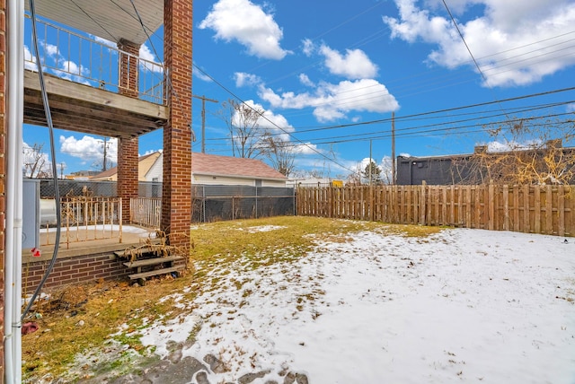
[[[135,137],[167,121],[167,108],[45,74],[54,127],[91,135]],[[37,73],[24,72],[24,123],[47,126]]]

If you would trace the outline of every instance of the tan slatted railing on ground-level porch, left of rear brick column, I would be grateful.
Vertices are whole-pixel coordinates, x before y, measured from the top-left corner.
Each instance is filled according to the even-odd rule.
[[[60,244],[118,239],[122,242],[122,199],[119,197],[62,197]],[[56,228],[40,231],[40,244],[55,242]]]

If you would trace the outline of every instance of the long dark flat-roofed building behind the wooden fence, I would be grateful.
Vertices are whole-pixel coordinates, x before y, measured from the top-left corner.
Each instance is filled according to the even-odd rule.
[[[551,156],[552,164],[544,160],[549,148],[555,151]],[[480,145],[474,148],[474,153],[427,157],[397,156],[396,184],[420,185],[424,181],[429,185],[482,184],[489,182],[491,178],[495,178],[496,182],[517,182],[514,172],[521,168],[521,163],[535,167],[533,174],[524,179],[526,183],[556,184],[557,180],[549,171],[553,170],[553,165],[561,168],[553,171],[563,172],[563,177],[569,175],[567,179],[569,181],[571,178],[570,183],[575,181],[575,148],[563,148],[560,140],[553,140],[537,150],[488,153],[487,146]],[[534,175],[537,173],[539,179],[535,180]]]

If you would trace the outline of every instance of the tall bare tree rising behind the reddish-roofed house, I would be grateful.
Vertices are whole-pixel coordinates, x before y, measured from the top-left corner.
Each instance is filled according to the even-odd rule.
[[[257,158],[267,149],[267,130],[260,127],[263,110],[243,102],[227,100],[219,112],[227,125],[234,157]]]

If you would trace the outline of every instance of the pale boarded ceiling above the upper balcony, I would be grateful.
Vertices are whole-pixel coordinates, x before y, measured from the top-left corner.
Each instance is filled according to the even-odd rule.
[[[146,26],[148,34],[157,31],[164,23],[164,0],[35,0],[36,14],[54,22],[60,22],[78,31],[119,42],[127,39],[143,44],[146,32],[138,20]],[[28,2],[24,2],[30,11]]]

